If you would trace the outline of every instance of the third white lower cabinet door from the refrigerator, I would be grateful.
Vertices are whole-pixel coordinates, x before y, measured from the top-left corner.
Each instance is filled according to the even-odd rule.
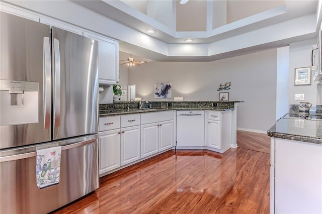
[[[158,123],[141,125],[141,158],[158,152]]]

